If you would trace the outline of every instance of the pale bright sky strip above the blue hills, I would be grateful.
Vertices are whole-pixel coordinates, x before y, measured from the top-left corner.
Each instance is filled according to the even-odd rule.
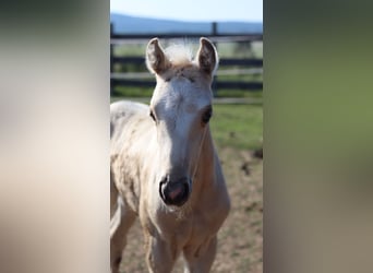
[[[263,0],[110,0],[110,12],[181,21],[263,22]]]

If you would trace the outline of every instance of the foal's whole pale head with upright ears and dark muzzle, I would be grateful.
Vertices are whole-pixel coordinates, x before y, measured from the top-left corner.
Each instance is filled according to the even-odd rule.
[[[164,50],[154,38],[147,45],[146,64],[157,80],[149,112],[157,130],[156,182],[167,205],[181,206],[192,192],[212,117],[210,85],[218,56],[206,38],[200,39],[194,59],[186,47]]]

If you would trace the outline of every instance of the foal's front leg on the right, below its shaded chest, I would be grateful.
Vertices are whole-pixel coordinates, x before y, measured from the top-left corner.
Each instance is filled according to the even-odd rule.
[[[206,273],[209,272],[217,248],[217,238],[212,239],[200,246],[198,249],[184,249],[185,270],[184,273]]]

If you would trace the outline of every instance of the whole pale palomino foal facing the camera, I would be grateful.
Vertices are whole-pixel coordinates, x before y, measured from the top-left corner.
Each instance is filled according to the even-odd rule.
[[[149,272],[171,272],[182,253],[185,272],[208,272],[230,201],[215,151],[213,74],[218,56],[201,38],[195,59],[157,38],[146,64],[157,79],[151,105],[110,106],[110,262],[119,271],[125,236],[142,224]]]

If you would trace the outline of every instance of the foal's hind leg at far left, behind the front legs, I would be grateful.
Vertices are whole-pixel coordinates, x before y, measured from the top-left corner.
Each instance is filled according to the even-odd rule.
[[[112,273],[119,272],[122,252],[127,242],[127,233],[135,217],[136,214],[118,195],[117,210],[110,219],[110,266]]]

